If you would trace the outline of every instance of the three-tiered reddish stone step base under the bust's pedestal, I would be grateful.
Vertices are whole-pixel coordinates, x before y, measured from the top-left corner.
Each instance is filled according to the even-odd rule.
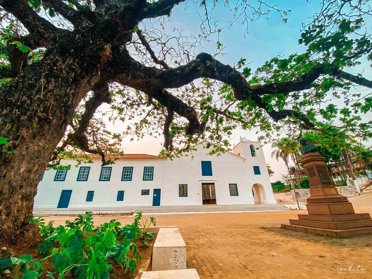
[[[368,213],[339,215],[299,214],[298,219],[289,219],[289,225],[282,224],[281,227],[286,230],[320,235],[326,233],[330,237],[347,238],[372,234],[372,219]]]

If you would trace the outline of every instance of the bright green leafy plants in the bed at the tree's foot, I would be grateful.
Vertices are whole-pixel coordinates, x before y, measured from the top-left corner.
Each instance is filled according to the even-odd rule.
[[[0,273],[20,273],[23,275],[21,279],[35,279],[41,275],[64,279],[68,273],[77,279],[108,279],[112,262],[115,261],[124,272],[130,269],[134,274],[137,260],[142,260],[134,240],[142,237],[142,243],[148,246],[147,241],[154,237],[154,233],[148,230],[151,224],[156,225],[155,218],[144,220],[142,212],[138,212],[131,225],[121,227],[120,222],[112,219],[94,228],[92,212],[85,214],[57,228],[53,228],[53,221],[45,225],[42,217],[32,216],[29,222],[38,224],[44,238],[44,242],[38,246],[38,253],[44,258],[32,260],[28,254],[0,260]],[[140,220],[143,229],[140,228]],[[44,272],[42,268],[42,262],[49,258],[52,258],[54,273]]]

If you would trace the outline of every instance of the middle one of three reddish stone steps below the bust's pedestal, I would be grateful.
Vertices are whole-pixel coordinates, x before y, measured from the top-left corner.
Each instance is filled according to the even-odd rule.
[[[307,226],[307,227],[325,228],[325,229],[331,229],[331,230],[345,230],[345,229],[350,229],[350,228],[372,227],[372,219],[343,221],[343,222],[324,222],[324,221],[289,219],[289,224]]]

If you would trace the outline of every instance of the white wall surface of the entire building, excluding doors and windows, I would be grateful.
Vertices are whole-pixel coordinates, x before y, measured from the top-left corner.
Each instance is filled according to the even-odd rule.
[[[221,156],[206,155],[202,145],[198,151],[188,156],[166,159],[118,159],[112,166],[110,181],[99,181],[101,160],[94,160],[90,166],[88,181],[77,181],[79,167],[76,161],[65,160],[71,164],[66,179],[53,181],[56,171],[45,171],[38,185],[35,208],[57,208],[62,190],[72,190],[68,208],[151,206],[153,189],[161,189],[160,205],[202,205],[202,183],[214,183],[217,205],[254,204],[252,186],[260,185],[262,201],[256,203],[276,203],[266,161],[262,148],[256,150],[256,157],[251,157],[249,145],[259,147],[260,142],[239,142],[234,153],[241,151],[245,157],[228,152]],[[193,155],[193,158],[192,158]],[[201,161],[211,161],[212,176],[202,176]],[[144,181],[145,166],[153,166],[153,180]],[[255,175],[253,166],[260,167],[260,175]],[[121,181],[123,167],[133,167],[132,181]],[[229,183],[236,183],[238,196],[230,196]],[[187,184],[187,197],[179,197],[179,184]],[[142,189],[150,189],[150,195],[141,195]],[[119,190],[124,190],[124,201],[116,201]],[[94,191],[92,202],[87,202],[87,192]]]

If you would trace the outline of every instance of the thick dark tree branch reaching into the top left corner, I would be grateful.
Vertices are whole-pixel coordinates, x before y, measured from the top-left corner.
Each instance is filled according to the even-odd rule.
[[[38,36],[40,43],[46,47],[52,35],[59,31],[48,20],[40,17],[26,0],[0,0],[0,5],[12,13],[27,28],[32,36]]]

